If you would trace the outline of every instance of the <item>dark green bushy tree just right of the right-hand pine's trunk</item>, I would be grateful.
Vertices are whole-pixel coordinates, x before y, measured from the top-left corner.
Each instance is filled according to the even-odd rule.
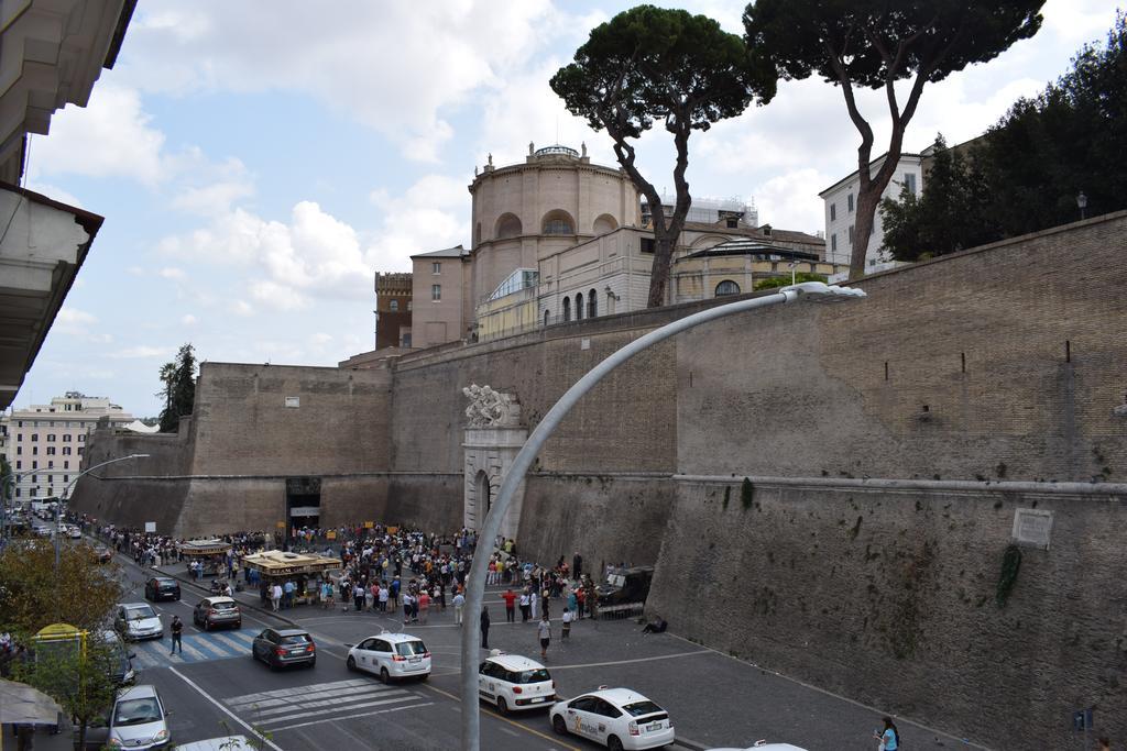
[[[947,147],[942,135],[935,138],[930,164],[922,194],[905,186],[898,198],[880,202],[884,250],[895,260],[946,256],[999,236],[982,176],[961,153]]]

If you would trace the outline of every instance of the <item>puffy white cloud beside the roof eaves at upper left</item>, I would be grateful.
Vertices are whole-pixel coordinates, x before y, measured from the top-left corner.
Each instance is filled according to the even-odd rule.
[[[51,118],[51,136],[36,138],[29,175],[126,177],[145,185],[165,178],[165,134],[150,126],[137,91],[100,81],[85,107],[68,106]]]

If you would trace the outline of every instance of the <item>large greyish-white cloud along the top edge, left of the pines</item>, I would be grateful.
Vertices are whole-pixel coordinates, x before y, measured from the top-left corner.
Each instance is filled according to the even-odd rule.
[[[225,0],[151,2],[119,69],[149,91],[308,93],[434,162],[453,136],[445,113],[525,60],[550,12],[548,0],[353,1],[331,14],[292,0],[266,15]]]

